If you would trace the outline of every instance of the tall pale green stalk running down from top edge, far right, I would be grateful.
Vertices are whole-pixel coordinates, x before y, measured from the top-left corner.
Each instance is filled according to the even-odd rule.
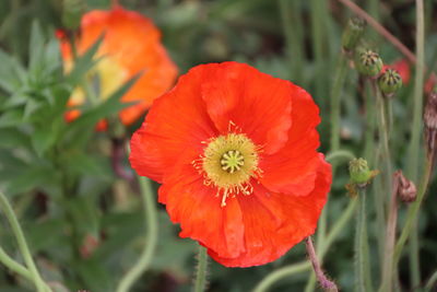
[[[409,145],[409,156],[406,168],[410,179],[417,180],[420,165],[420,144],[422,138],[422,113],[423,113],[423,85],[425,70],[425,22],[423,0],[416,0],[416,70],[414,80],[414,105],[413,105],[413,126],[411,129],[411,140]],[[413,207],[410,207],[413,208]],[[417,226],[414,219],[413,226]],[[421,270],[418,260],[418,233],[417,227],[413,229],[410,241],[410,262],[411,262],[411,287],[417,287],[421,282]]]

